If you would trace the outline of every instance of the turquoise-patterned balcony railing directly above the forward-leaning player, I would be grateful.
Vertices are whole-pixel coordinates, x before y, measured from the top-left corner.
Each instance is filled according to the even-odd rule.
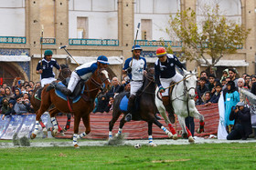
[[[118,46],[119,41],[116,39],[69,39],[69,45],[103,45],[103,46]]]

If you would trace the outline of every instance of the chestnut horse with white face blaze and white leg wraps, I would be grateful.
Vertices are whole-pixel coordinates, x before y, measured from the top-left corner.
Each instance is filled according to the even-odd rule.
[[[91,75],[91,78],[84,84],[85,90],[83,91],[80,100],[71,105],[71,113],[74,115],[73,145],[76,148],[79,147],[77,139],[85,135],[88,135],[91,132],[90,113],[93,110],[96,95],[99,93],[100,89],[102,88],[102,85],[104,86],[104,89],[109,89],[111,87],[109,73],[105,69],[98,67],[96,71]],[[41,115],[48,110],[48,107],[50,105],[55,105],[54,108],[49,110],[51,122],[54,127],[52,133],[53,135],[55,135],[58,131],[58,125],[54,116],[59,112],[70,112],[68,102],[66,100],[59,98],[59,96],[55,94],[55,90],[52,89],[47,91],[47,87],[48,85],[42,91],[42,101],[40,108],[37,111],[35,130],[30,136],[32,139],[37,136],[38,123]],[[78,135],[80,118],[82,118],[83,124],[86,127],[86,131]]]

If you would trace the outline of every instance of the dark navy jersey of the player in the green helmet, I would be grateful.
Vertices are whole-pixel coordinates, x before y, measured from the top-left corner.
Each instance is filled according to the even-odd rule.
[[[42,65],[41,65],[41,62],[42,62]],[[55,59],[51,59],[50,61],[47,61],[45,58],[43,58],[38,62],[37,71],[40,69],[43,70],[43,73],[41,74],[41,79],[55,76],[55,74],[52,71],[53,66],[56,67],[58,70],[60,68],[59,64]]]

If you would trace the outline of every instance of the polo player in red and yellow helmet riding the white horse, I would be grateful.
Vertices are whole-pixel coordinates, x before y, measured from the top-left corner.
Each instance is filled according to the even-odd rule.
[[[176,73],[176,65],[179,68],[186,69],[184,65],[180,63],[175,55],[167,54],[164,47],[160,47],[156,50],[156,56],[158,59],[155,61],[155,83],[159,87],[159,92],[163,96],[163,104],[165,110],[168,112],[169,119],[172,124],[175,123],[174,109],[171,105],[169,98],[169,85],[172,82],[179,82],[183,79],[183,76]]]

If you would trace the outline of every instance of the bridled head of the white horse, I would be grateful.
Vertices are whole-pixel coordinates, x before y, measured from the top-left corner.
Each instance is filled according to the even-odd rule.
[[[195,71],[188,72],[183,70],[184,72],[184,88],[186,95],[189,99],[194,99],[196,96],[196,87],[197,87],[197,76]]]

